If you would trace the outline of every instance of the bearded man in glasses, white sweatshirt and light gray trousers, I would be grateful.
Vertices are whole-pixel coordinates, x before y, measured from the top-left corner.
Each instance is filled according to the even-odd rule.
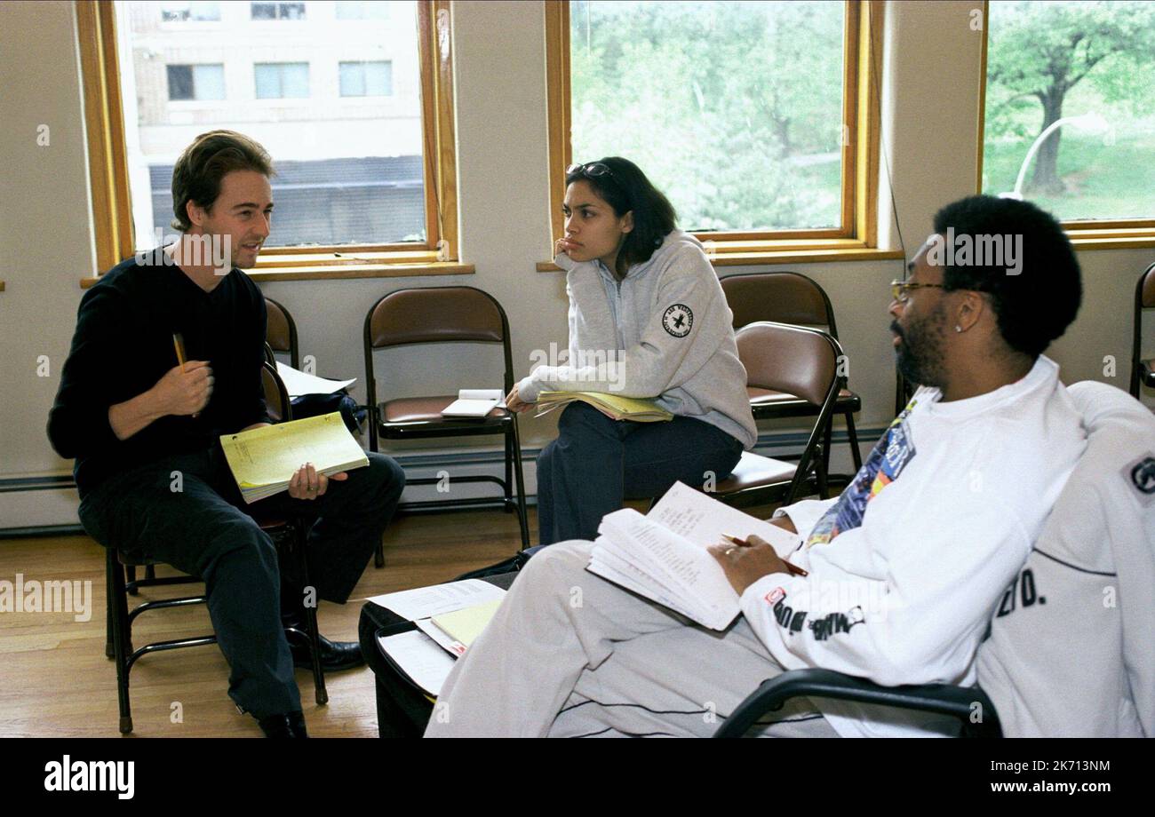
[[[777,511],[797,550],[714,548],[740,595],[735,624],[693,625],[586,571],[593,542],[554,545],[459,660],[426,734],[707,735],[762,680],[804,667],[974,683],[993,607],[1086,445],[1042,354],[1074,318],[1081,283],[1061,227],[1029,203],[973,196],[939,211],[934,231],[889,308],[899,367],[922,388],[839,499]],[[991,257],[998,245],[1016,257]],[[787,555],[808,575],[791,575]],[[796,699],[760,729],[947,726]]]

